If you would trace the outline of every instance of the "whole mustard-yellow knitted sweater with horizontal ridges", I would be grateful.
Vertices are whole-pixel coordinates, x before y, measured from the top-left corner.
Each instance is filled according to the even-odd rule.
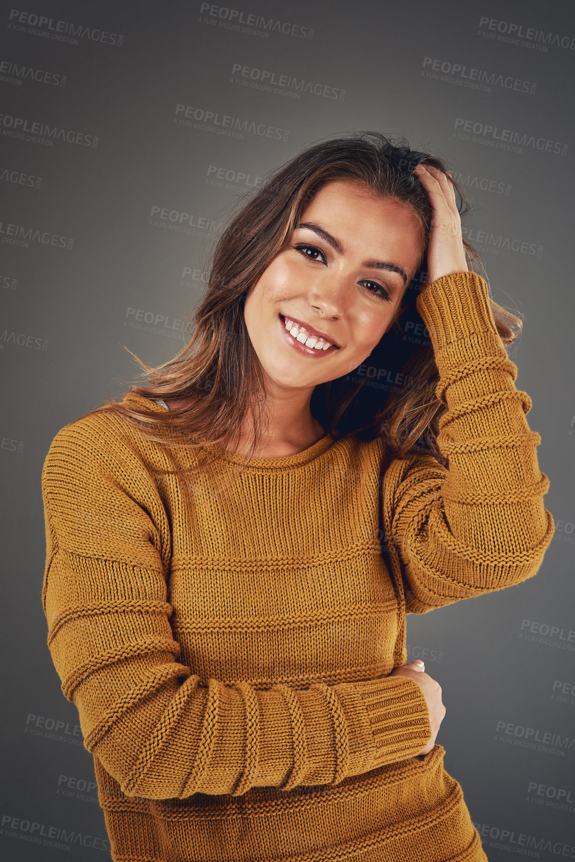
[[[155,468],[197,453],[122,417],[53,438],[47,642],[116,862],[486,859],[445,749],[417,756],[419,685],[390,674],[406,613],[533,577],[553,536],[487,297],[459,272],[417,299],[448,469],[326,434],[241,475],[218,448],[184,482]]]

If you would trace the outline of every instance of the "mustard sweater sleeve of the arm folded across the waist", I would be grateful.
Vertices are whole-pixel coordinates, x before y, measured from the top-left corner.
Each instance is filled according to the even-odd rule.
[[[301,690],[200,683],[170,624],[166,509],[137,447],[109,432],[84,417],[47,453],[42,606],[84,747],[122,792],[183,799],[337,784],[418,754],[431,728],[409,678]]]

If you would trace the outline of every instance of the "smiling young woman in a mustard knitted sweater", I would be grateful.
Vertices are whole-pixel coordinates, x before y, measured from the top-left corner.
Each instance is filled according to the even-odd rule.
[[[190,344],[54,437],[48,645],[118,862],[486,859],[405,615],[533,577],[553,518],[465,211],[404,141],[309,147]]]

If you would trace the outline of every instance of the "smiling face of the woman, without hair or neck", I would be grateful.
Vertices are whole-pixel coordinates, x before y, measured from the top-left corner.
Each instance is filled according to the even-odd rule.
[[[406,204],[348,179],[324,185],[247,293],[247,332],[264,372],[297,389],[352,372],[390,328],[422,250]],[[308,331],[291,335],[286,320]],[[322,334],[334,347],[315,347]]]

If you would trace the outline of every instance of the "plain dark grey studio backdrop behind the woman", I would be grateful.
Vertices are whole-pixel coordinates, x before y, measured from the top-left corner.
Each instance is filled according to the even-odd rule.
[[[212,15],[181,0],[17,8],[18,16],[122,34],[121,46],[85,34],[55,40],[46,26],[15,29],[14,8],[0,8],[5,858],[59,860],[64,845],[73,859],[109,858],[91,754],[59,688],[41,608],[40,475],[53,435],[136,379],[122,346],[150,365],[183,347],[185,319],[202,294],[200,267],[254,178],[319,139],[359,129],[401,133],[447,158],[475,203],[465,226],[472,240],[484,232],[476,245],[493,296],[525,315],[509,356],[517,387],[533,400],[528,423],[542,438],[555,537],[536,578],[410,615],[408,647],[441,683],[447,715],[437,741],[489,859],[575,858],[572,3],[230,0]],[[265,37],[218,26],[226,24],[221,9],[302,29]],[[521,25],[516,34],[538,34],[515,44],[511,24]],[[425,58],[466,72],[428,78]],[[345,97],[241,86],[234,64]],[[528,91],[458,84],[471,68],[527,82]],[[30,78],[30,69],[66,76],[65,85]],[[178,103],[281,129],[281,140],[184,127],[174,122]],[[97,146],[15,136],[13,118],[97,137]],[[489,135],[465,140],[458,120],[557,142],[561,152],[528,143],[506,150],[490,146],[498,139]],[[231,187],[210,184],[214,169],[230,172]],[[178,222],[161,217],[163,208]],[[183,213],[189,230],[170,229]],[[189,216],[193,225],[214,220],[216,230],[194,235]],[[521,247],[528,251],[514,250]],[[540,740],[559,736],[559,753],[522,746],[528,728]],[[44,843],[59,830],[75,840]]]

